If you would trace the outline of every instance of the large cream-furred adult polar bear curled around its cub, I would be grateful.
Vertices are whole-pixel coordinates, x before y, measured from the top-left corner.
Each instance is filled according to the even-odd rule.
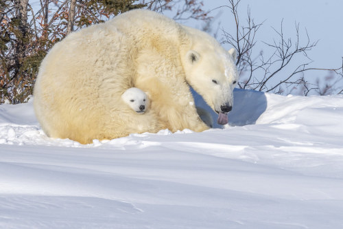
[[[227,122],[234,61],[235,50],[227,52],[209,34],[132,10],[54,45],[40,65],[34,109],[47,135],[83,144],[165,128],[204,131],[188,85]],[[121,100],[130,87],[148,92],[144,115]]]

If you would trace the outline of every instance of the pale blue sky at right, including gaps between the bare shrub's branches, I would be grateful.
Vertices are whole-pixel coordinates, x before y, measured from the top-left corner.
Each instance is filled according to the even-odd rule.
[[[204,6],[209,9],[226,5],[228,5],[228,0],[204,0]],[[308,65],[308,67],[314,68],[337,69],[342,67],[343,1],[241,0],[239,3],[239,15],[241,18],[241,23],[244,23],[247,19],[246,15],[248,7],[250,8],[250,14],[252,18],[255,19],[255,23],[263,22],[263,25],[261,28],[259,28],[256,36],[257,43],[255,51],[257,54],[261,50],[265,54],[268,54],[268,47],[266,47],[263,42],[273,43],[273,39],[278,38],[273,28],[279,31],[281,28],[281,21],[283,21],[283,32],[286,38],[291,38],[292,41],[295,41],[295,25],[296,23],[299,23],[300,44],[305,45],[307,43],[306,31],[309,34],[309,39],[311,42],[318,41],[316,47],[307,52],[308,57],[311,60],[308,60],[303,55],[297,55],[289,65],[288,69],[286,69],[285,74],[291,71],[293,72],[298,65],[303,63],[311,63]],[[224,7],[213,10],[212,12],[214,15],[219,15],[215,23],[220,23],[221,29],[229,33],[235,32],[235,20],[230,13],[230,9]],[[222,38],[222,33],[219,33],[217,39],[220,40]],[[227,50],[230,49],[229,45],[224,44],[224,47],[226,47]],[[309,83],[317,84],[319,82],[321,88],[325,87],[326,83],[328,82],[327,78],[330,76],[333,76],[333,80],[331,80],[331,83],[329,84],[334,85],[333,87],[335,87],[331,94],[337,94],[343,88],[343,78],[341,76],[334,74],[330,75],[330,72],[326,71],[308,71],[305,73],[305,78],[309,81]],[[275,78],[274,82],[279,80],[280,77]],[[295,94],[302,94],[302,90],[297,89]],[[318,94],[318,92],[311,91],[309,95],[311,94]]]

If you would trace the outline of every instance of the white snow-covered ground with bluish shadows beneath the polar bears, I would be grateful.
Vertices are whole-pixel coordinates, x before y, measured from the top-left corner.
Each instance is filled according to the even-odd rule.
[[[0,228],[343,228],[343,96],[235,90],[229,120],[82,145],[0,105]]]

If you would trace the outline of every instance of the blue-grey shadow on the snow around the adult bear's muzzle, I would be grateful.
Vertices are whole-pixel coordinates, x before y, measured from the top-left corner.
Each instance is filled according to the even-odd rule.
[[[190,87],[191,88],[191,87]],[[218,115],[206,104],[193,88],[191,88],[194,101],[197,107],[202,107],[209,111],[213,118],[213,128],[223,128],[217,124]],[[228,124],[230,126],[245,126],[255,124],[261,114],[267,109],[267,98],[261,91],[234,89],[233,90],[233,109],[228,113]]]

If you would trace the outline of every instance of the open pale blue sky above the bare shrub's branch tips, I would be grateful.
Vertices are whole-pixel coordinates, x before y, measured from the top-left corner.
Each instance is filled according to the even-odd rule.
[[[228,5],[227,0],[204,0],[204,6],[209,9]],[[283,20],[285,35],[294,36],[295,23],[300,23],[300,30],[307,30],[311,41],[318,45],[309,52],[316,67],[334,68],[342,65],[343,56],[343,1],[341,0],[241,0],[239,12],[241,22],[246,17],[246,9],[250,7],[251,16],[257,23],[263,22],[259,30],[258,40],[270,42],[276,37],[271,27],[280,28]],[[233,17],[228,8],[214,10],[221,12],[217,22],[227,32],[234,31]],[[306,41],[306,36],[304,36]],[[262,45],[260,42],[257,45]]]

